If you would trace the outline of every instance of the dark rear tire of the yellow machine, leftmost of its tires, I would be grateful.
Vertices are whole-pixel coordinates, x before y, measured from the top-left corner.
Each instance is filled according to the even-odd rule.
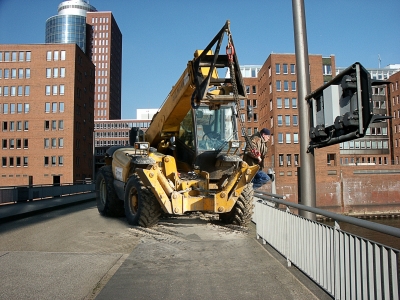
[[[124,202],[118,198],[113,181],[111,166],[101,167],[96,176],[97,210],[103,216],[122,217]]]

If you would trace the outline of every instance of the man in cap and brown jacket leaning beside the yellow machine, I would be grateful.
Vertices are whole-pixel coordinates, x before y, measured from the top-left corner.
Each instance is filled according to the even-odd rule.
[[[250,144],[246,144],[243,160],[250,166],[259,165],[260,170],[254,176],[252,183],[254,188],[259,188],[266,184],[270,177],[262,171],[264,158],[267,155],[267,142],[271,138],[271,132],[267,128],[261,129],[250,137]]]

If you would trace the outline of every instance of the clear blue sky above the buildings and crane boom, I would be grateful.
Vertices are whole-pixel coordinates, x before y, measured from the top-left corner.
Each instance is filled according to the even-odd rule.
[[[0,43],[41,44],[61,0],[0,0]],[[227,20],[241,65],[295,53],[290,0],[91,0],[122,32],[122,119],[159,108],[196,49]],[[335,55],[337,67],[400,64],[399,0],[304,0],[309,54]],[[379,61],[380,57],[380,61]]]

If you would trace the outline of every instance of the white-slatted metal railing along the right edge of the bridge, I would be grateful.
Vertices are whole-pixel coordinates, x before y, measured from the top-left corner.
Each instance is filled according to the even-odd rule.
[[[308,275],[335,299],[399,299],[399,253],[374,241],[295,215],[306,210],[400,237],[400,229],[331,213],[255,191],[257,238]],[[258,198],[258,199],[257,199]],[[279,204],[286,210],[279,209]],[[337,224],[337,223],[336,223]]]

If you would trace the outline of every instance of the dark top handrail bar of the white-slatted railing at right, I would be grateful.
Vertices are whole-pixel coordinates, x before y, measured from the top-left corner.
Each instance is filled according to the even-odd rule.
[[[339,214],[336,214],[336,213],[333,213],[333,212],[330,212],[327,210],[323,210],[320,208],[297,204],[297,203],[289,202],[286,200],[281,200],[278,198],[265,197],[264,194],[266,194],[266,193],[262,192],[262,191],[255,191],[254,196],[256,196],[260,199],[263,199],[263,200],[273,201],[273,202],[276,202],[276,203],[279,203],[282,205],[286,205],[288,207],[294,207],[294,208],[297,208],[300,210],[305,210],[305,211],[309,211],[309,212],[312,212],[315,214],[323,215],[325,217],[332,218],[336,221],[341,221],[341,222],[353,224],[356,226],[361,226],[364,228],[379,231],[381,233],[400,238],[400,229],[399,228],[395,228],[395,227],[384,225],[384,224],[374,223],[374,222],[370,222],[367,220],[357,219],[357,218],[353,218],[353,217],[349,217],[349,216],[339,215]]]

